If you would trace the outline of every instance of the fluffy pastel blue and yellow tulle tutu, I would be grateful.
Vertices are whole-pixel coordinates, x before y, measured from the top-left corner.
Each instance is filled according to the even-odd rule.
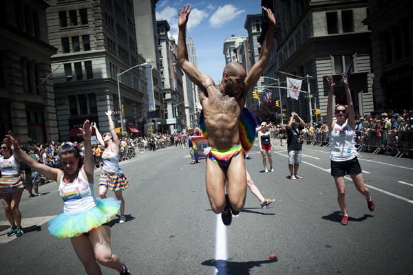
[[[48,229],[51,235],[58,238],[81,236],[81,234],[109,222],[112,216],[118,214],[119,209],[120,201],[114,197],[96,198],[94,208],[72,215],[61,213],[48,222]]]

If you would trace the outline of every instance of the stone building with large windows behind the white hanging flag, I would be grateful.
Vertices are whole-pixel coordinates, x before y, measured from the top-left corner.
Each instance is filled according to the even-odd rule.
[[[299,100],[282,102],[286,113],[296,111],[306,121],[326,118],[328,87],[325,76],[337,83],[335,102],[346,104],[341,75],[350,67],[350,91],[356,115],[374,111],[370,30],[363,25],[368,1],[274,1],[277,18],[278,77],[304,79]],[[268,67],[266,74],[272,69]],[[285,84],[284,84],[285,85]],[[344,96],[344,98],[343,98]],[[315,115],[315,109],[321,115]]]

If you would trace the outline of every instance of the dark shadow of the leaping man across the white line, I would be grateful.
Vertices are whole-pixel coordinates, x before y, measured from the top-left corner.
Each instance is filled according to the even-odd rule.
[[[253,267],[260,267],[266,263],[275,263],[277,257],[266,261],[233,262],[225,260],[207,260],[201,265],[213,266],[218,270],[217,275],[249,275]]]

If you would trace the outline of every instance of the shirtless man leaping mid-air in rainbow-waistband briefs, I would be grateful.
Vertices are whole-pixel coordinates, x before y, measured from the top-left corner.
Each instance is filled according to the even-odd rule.
[[[211,76],[202,74],[189,62],[186,28],[191,7],[188,4],[178,10],[178,63],[189,79],[200,88],[200,103],[211,146],[205,173],[207,194],[213,212],[222,214],[225,225],[231,224],[231,211],[238,214],[242,210],[246,197],[246,172],[239,133],[240,115],[246,94],[260,79],[273,47],[275,17],[271,10],[262,8],[268,19],[268,32],[260,60],[251,68],[248,76],[240,63],[228,63],[219,85],[215,85]],[[227,197],[224,191],[226,179]]]

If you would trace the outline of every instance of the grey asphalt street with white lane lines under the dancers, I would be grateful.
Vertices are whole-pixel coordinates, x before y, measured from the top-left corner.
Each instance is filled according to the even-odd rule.
[[[275,172],[264,173],[257,142],[245,160],[255,185],[275,203],[263,210],[247,190],[244,210],[229,227],[211,211],[205,163],[191,165],[188,148],[147,151],[121,162],[131,184],[124,192],[126,223],[118,217],[110,222],[114,254],[132,274],[413,274],[413,159],[361,153],[376,209],[368,210],[346,177],[350,217],[343,226],[329,148],[304,145],[304,179],[293,181],[287,148],[276,142]],[[45,195],[23,192],[23,236],[6,236],[9,225],[0,211],[0,274],[85,274],[70,240],[47,230],[47,220],[63,211],[56,183],[39,191]]]

